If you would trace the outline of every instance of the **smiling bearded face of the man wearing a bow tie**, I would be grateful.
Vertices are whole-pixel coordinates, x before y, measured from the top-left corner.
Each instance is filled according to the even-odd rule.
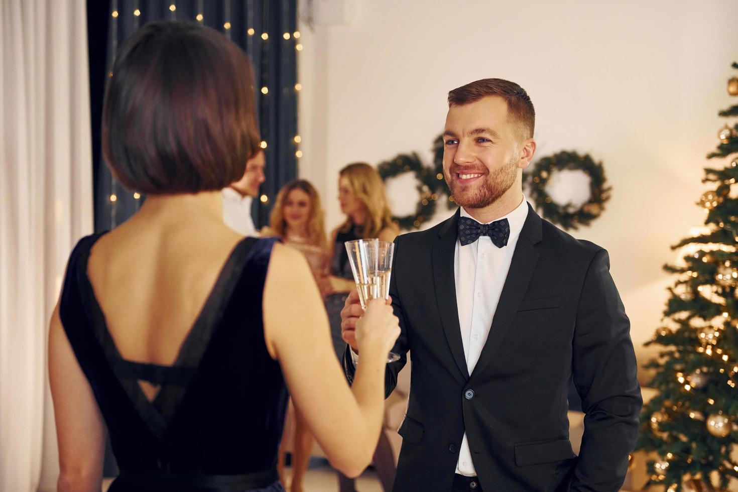
[[[530,162],[520,157],[528,140],[508,118],[502,97],[452,105],[444,130],[444,176],[454,201],[474,209],[497,201]]]

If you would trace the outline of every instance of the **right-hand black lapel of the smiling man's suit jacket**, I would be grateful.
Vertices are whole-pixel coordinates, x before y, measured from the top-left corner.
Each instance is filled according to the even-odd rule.
[[[520,301],[523,300],[525,291],[528,290],[528,283],[531,282],[536,269],[539,253],[535,245],[540,242],[541,238],[541,218],[528,204],[528,217],[525,218],[523,230],[517,240],[505,285],[500,293],[500,302],[497,303],[497,309],[494,311],[492,328],[489,330],[487,342],[472,371],[472,377],[482,373],[492,361],[494,353],[500,348],[500,344],[510,329],[512,319],[517,313],[517,308],[520,307]]]

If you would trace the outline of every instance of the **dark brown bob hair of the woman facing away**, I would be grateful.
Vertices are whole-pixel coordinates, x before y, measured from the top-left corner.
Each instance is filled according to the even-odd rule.
[[[120,47],[103,103],[103,157],[128,190],[220,190],[258,150],[244,52],[193,22],[151,22]]]

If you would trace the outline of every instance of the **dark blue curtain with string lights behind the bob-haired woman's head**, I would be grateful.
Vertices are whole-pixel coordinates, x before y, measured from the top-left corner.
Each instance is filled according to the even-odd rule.
[[[100,115],[117,47],[148,21],[187,19],[223,32],[254,64],[266,182],[254,200],[256,226],[267,223],[277,191],[297,176],[297,0],[89,0],[88,38],[94,159],[95,230],[112,229],[144,196],[115,181],[100,155]],[[261,198],[261,199],[260,199]]]

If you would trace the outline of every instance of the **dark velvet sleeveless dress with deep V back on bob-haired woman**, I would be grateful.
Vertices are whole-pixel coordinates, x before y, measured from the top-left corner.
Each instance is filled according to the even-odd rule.
[[[87,276],[100,235],[77,243],[60,315],[120,467],[109,491],[282,491],[286,385],[266,350],[262,297],[275,238],[233,249],[173,366],[126,361]],[[153,401],[138,381],[160,385]]]

